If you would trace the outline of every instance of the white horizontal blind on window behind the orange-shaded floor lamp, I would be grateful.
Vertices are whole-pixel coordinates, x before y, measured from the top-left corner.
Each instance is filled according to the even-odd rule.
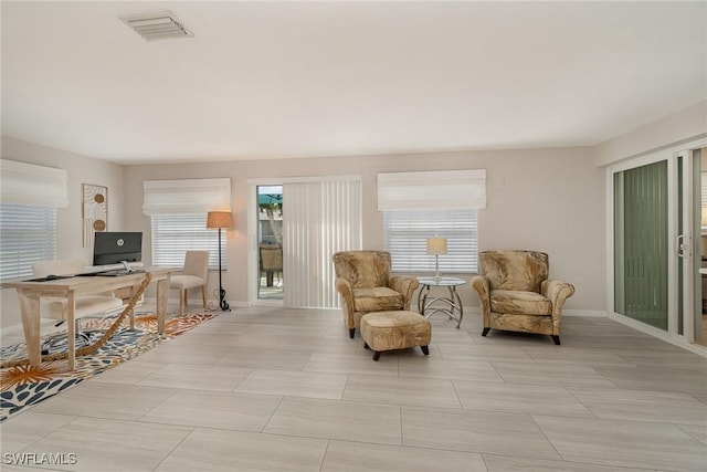
[[[154,214],[152,265],[181,268],[189,250],[211,251],[209,269],[219,269],[219,230],[207,229],[207,213]],[[226,232],[221,230],[222,268],[228,269]]]

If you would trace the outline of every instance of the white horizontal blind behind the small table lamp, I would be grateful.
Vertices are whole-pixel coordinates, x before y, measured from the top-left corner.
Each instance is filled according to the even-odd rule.
[[[393,272],[434,273],[434,255],[428,255],[428,238],[447,239],[447,253],[440,255],[441,273],[477,272],[476,210],[386,211],[384,248]]]

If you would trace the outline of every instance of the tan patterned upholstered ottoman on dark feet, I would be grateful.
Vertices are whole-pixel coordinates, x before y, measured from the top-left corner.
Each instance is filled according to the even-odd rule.
[[[407,311],[374,312],[363,315],[360,323],[363,346],[373,350],[373,360],[380,353],[391,349],[404,349],[420,346],[429,355],[428,345],[432,338],[430,321],[424,316]]]

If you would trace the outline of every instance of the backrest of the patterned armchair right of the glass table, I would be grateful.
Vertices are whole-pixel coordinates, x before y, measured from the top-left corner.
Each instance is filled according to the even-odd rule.
[[[548,254],[537,251],[484,251],[479,255],[482,275],[490,290],[540,292],[548,279]]]

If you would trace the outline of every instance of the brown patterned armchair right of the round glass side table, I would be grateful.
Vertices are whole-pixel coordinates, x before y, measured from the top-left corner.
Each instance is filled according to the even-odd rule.
[[[535,251],[484,251],[472,286],[481,302],[484,331],[547,334],[560,344],[564,301],[572,284],[549,280],[548,254]]]

